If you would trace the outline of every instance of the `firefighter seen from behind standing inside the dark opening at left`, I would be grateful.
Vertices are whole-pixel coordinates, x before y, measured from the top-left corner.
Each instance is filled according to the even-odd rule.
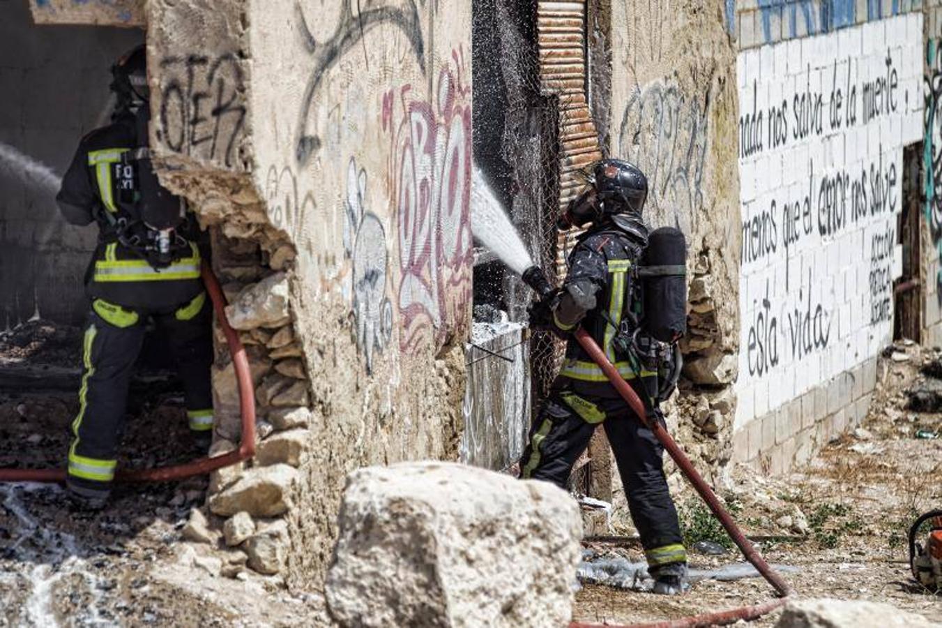
[[[112,124],[81,140],[57,195],[66,221],[99,226],[85,277],[90,312],[67,480],[73,501],[87,507],[101,507],[108,497],[131,372],[150,319],[177,362],[198,446],[208,445],[213,428],[204,239],[182,200],[154,174],[144,47],[121,58],[112,74]]]

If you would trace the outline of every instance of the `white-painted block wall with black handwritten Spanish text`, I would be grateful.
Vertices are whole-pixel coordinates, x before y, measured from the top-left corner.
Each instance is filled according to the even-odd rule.
[[[735,451],[759,469],[804,463],[861,421],[892,340],[903,147],[923,136],[923,16],[910,4],[740,2],[729,22],[741,50]]]

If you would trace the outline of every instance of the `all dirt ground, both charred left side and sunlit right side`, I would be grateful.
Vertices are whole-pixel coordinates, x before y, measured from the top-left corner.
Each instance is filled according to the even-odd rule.
[[[4,342],[0,336],[0,361],[10,355]],[[906,361],[883,361],[865,431],[831,443],[787,477],[737,469],[721,496],[750,535],[773,538],[760,542],[772,563],[800,570],[787,577],[801,595],[885,601],[938,620],[942,598],[912,582],[902,539],[919,512],[942,507],[942,439],[914,438],[918,429],[942,431],[942,413],[905,409],[904,390],[934,355],[901,349]],[[46,355],[57,367],[73,368],[68,351]],[[25,359],[35,366],[35,357]],[[163,465],[194,455],[179,393],[161,381],[138,384],[122,464]],[[0,387],[0,467],[61,465],[75,409],[71,390]],[[291,594],[279,577],[252,571],[219,576],[205,546],[183,541],[204,491],[204,480],[123,487],[106,510],[91,515],[73,511],[57,486],[0,485],[0,628],[325,625],[319,595]],[[694,537],[722,540],[695,500],[681,502]],[[797,511],[806,520],[801,532],[796,521],[782,520],[801,519]],[[642,559],[630,541],[592,549]],[[695,567],[740,560],[733,552],[691,556]],[[664,620],[770,597],[759,579],[704,581],[677,598],[587,586],[577,594],[574,619]]]

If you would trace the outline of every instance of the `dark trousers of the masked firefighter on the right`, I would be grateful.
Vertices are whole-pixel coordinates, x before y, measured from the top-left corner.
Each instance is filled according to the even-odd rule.
[[[635,382],[631,384],[638,389]],[[659,421],[653,412],[648,416]],[[658,572],[686,563],[680,523],[664,475],[664,449],[621,397],[577,394],[555,386],[530,429],[529,444],[520,461],[521,476],[565,488],[599,425],[615,454],[649,571],[657,577]]]

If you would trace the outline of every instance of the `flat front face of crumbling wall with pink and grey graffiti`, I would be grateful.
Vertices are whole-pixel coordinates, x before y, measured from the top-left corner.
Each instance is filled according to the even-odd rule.
[[[294,577],[329,559],[347,472],[458,456],[471,8],[442,4],[251,5],[252,176],[297,250],[296,329],[323,416],[316,490],[292,517],[305,548],[292,554]]]

